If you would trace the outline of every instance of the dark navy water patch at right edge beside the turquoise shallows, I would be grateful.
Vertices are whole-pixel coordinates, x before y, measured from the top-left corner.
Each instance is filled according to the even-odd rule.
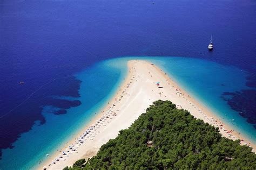
[[[225,92],[223,98],[233,110],[238,111],[240,116],[246,118],[248,123],[256,124],[256,90]]]

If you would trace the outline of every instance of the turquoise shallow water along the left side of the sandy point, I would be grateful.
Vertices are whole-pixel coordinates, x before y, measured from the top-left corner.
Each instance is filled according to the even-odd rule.
[[[22,133],[13,144],[14,148],[3,150],[1,169],[30,169],[39,165],[57,148],[61,148],[73,134],[99,114],[101,108],[114,95],[127,73],[126,61],[99,62],[76,74],[80,84],[79,98],[51,96],[63,100],[79,100],[83,104],[67,109],[64,115],[52,114],[59,110],[53,105],[43,107],[45,124],[36,121],[29,132]],[[53,158],[52,158],[53,159]],[[14,161],[15,160],[15,161]]]

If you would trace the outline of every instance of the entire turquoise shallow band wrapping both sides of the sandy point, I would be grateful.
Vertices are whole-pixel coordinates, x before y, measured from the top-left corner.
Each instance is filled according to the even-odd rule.
[[[32,130],[23,133],[14,143],[14,148],[3,150],[1,169],[30,169],[44,160],[66,141],[73,138],[81,125],[88,123],[116,92],[127,74],[127,61],[143,59],[153,62],[169,74],[178,84],[202,104],[210,108],[223,121],[234,126],[246,137],[256,141],[256,130],[246,122],[238,112],[232,110],[221,98],[224,92],[233,92],[246,87],[247,73],[238,68],[219,65],[218,63],[181,57],[136,57],[129,56],[98,62],[97,64],[77,73],[81,80],[78,107],[68,109],[64,115],[50,114],[58,108],[48,105],[43,109],[46,119],[44,125],[35,122]],[[65,96],[49,96],[77,100]],[[235,119],[234,122],[229,121]],[[13,162],[15,160],[15,162]]]

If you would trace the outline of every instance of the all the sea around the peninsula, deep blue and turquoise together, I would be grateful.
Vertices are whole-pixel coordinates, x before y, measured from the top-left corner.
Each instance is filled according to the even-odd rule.
[[[0,168],[32,168],[72,138],[122,82],[123,56],[156,63],[255,142],[255,16],[252,0],[0,1]]]

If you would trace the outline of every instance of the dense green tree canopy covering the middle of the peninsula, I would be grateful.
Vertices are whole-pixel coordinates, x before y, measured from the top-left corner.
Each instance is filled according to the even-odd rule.
[[[80,159],[64,169],[256,169],[256,154],[239,142],[159,100],[86,164]]]

